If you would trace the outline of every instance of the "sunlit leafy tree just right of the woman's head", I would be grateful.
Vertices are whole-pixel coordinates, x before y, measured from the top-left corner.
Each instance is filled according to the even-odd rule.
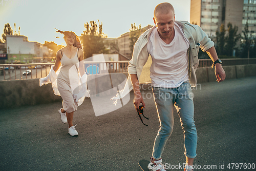
[[[95,21],[90,21],[90,24],[88,22],[84,24],[84,31],[80,36],[81,43],[83,44],[84,58],[90,58],[93,53],[109,53],[102,39],[106,37],[102,32],[102,23],[99,23],[99,26]]]

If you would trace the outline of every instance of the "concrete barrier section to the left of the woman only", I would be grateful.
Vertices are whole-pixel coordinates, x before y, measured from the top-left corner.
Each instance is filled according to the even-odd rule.
[[[61,102],[51,84],[39,87],[39,79],[0,82],[0,109]]]

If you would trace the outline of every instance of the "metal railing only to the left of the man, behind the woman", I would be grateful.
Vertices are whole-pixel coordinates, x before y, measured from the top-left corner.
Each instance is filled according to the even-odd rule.
[[[129,61],[84,62],[87,74],[127,72]],[[1,64],[0,81],[46,77],[54,63]]]

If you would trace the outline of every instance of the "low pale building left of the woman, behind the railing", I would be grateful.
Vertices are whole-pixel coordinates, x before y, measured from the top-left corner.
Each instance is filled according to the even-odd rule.
[[[32,62],[34,57],[43,56],[42,44],[29,42],[24,35],[6,35],[8,62]]]

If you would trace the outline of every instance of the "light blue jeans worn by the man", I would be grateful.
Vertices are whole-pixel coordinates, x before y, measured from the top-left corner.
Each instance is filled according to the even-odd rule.
[[[175,106],[184,131],[184,154],[189,158],[195,158],[197,156],[197,130],[194,121],[194,93],[191,90],[191,85],[187,81],[177,88],[153,87],[153,93],[160,128],[155,139],[152,156],[156,160],[161,159],[164,146],[173,132]]]

